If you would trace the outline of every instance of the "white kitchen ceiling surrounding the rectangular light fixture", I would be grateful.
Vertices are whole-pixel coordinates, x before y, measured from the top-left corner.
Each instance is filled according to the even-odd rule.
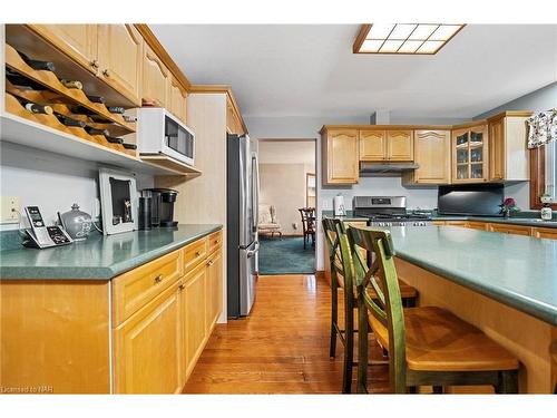
[[[470,118],[557,80],[557,26],[469,25],[434,56],[353,55],[359,25],[154,25],[244,116]]]

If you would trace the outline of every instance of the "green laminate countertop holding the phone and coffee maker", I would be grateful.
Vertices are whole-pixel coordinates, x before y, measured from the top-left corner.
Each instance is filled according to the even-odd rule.
[[[188,224],[109,236],[95,233],[53,249],[18,246],[0,252],[0,278],[109,280],[221,229]]]

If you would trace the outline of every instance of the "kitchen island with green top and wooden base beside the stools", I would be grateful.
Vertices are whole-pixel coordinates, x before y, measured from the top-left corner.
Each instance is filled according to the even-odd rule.
[[[520,360],[520,392],[557,385],[557,241],[455,226],[391,227],[399,276]]]

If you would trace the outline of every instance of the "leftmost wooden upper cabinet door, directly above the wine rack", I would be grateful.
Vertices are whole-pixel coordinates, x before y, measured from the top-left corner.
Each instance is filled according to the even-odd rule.
[[[29,25],[29,27],[84,68],[97,74],[98,25]]]

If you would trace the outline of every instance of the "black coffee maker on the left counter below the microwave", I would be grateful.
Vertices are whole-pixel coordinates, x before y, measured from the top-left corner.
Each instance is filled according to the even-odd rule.
[[[150,205],[141,205],[145,213],[139,214],[139,218],[150,217],[150,226],[176,226],[178,222],[174,221],[174,203],[177,195],[178,191],[172,188],[144,188],[141,197],[145,197],[145,202],[150,200]],[[149,210],[150,216],[148,214]],[[149,227],[145,225],[145,229]]]

